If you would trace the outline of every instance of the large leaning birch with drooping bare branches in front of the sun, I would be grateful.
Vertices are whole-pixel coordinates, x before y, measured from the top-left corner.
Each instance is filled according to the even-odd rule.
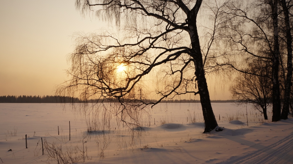
[[[219,5],[217,1],[211,2]],[[139,125],[134,111],[143,111],[166,98],[199,95],[204,132],[210,132],[217,127],[217,121],[205,70],[217,70],[212,65],[218,57],[213,44],[220,39],[218,31],[223,17],[208,4],[202,5],[202,0],[76,0],[76,8],[82,14],[95,13],[102,20],[115,22],[117,29],[76,34],[76,48],[69,56],[71,68],[67,71],[71,79],[57,93],[84,100],[94,97],[115,100],[120,106],[113,113],[128,125]],[[197,29],[201,6],[205,7],[202,13],[213,20],[200,25],[206,31],[203,37],[199,37]],[[201,41],[207,46],[201,47]],[[154,81],[155,93],[152,93]],[[149,101],[154,94],[159,98]],[[129,115],[128,121],[123,114]]]

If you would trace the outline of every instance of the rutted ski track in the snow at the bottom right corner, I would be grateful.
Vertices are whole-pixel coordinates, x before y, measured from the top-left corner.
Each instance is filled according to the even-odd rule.
[[[278,142],[271,144],[263,149],[256,150],[245,156],[242,156],[231,161],[223,161],[220,163],[293,163],[293,132],[287,137],[279,140]]]

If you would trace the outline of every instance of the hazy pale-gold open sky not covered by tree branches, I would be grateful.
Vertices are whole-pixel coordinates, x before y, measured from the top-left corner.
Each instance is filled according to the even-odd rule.
[[[106,28],[92,15],[81,17],[74,0],[1,1],[0,21],[0,96],[54,95],[67,77],[74,32]],[[212,100],[231,99],[218,86],[209,90]]]

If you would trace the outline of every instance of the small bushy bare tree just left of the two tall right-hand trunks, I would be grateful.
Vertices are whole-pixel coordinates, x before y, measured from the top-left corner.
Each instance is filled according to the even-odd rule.
[[[265,120],[268,119],[267,107],[270,105],[272,94],[269,68],[268,62],[254,61],[248,64],[248,71],[252,74],[239,73],[229,88],[233,98],[239,100],[239,104],[252,103],[254,109],[263,113]]]

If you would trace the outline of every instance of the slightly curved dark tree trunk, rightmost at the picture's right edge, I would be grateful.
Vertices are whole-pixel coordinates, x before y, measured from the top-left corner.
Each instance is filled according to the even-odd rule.
[[[281,5],[284,12],[285,27],[286,27],[286,40],[287,40],[287,77],[285,81],[285,93],[284,93],[284,104],[281,114],[281,119],[287,119],[289,113],[290,93],[292,86],[292,35],[291,27],[289,22],[289,9],[286,5],[285,0],[281,0]]]

